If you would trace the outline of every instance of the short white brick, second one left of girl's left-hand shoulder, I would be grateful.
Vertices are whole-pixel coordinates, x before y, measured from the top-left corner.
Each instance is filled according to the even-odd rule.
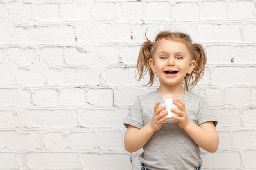
[[[112,89],[89,89],[88,103],[96,106],[112,106],[113,90]]]

